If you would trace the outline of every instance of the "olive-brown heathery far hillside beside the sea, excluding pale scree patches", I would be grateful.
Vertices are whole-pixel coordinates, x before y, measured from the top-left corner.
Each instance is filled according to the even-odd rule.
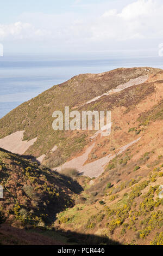
[[[53,111],[64,110],[64,106],[85,110],[85,106],[82,109],[77,106],[130,79],[149,73],[155,74],[158,71],[158,69],[153,68],[120,68],[98,75],[84,74],[75,76],[64,84],[54,86],[36,98],[29,100],[29,102],[23,103],[3,117],[0,122],[0,138],[17,132],[17,130],[24,130],[23,140],[30,140],[37,137],[37,141],[26,153],[32,154],[35,157],[47,154],[45,160],[46,165],[48,167],[58,166],[72,157],[76,152],[82,151],[89,142],[88,136],[91,133],[55,132],[52,129]],[[129,99],[126,95],[122,100],[122,92],[122,96],[120,94],[119,98],[112,96],[108,102],[108,97],[103,97],[99,102],[87,105],[86,109],[98,110],[100,107],[100,109],[106,110],[113,108],[113,106],[129,104],[134,106],[136,102],[139,102],[142,94],[145,97],[145,94],[149,91],[148,86],[146,86],[146,92],[142,93],[141,88],[139,92],[133,92],[135,94],[135,101],[133,103],[131,103],[131,94],[129,95]],[[58,146],[58,150],[52,153],[51,150],[54,145]]]

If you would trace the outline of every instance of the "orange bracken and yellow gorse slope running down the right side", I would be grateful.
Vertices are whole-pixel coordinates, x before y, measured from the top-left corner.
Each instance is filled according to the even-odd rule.
[[[162,72],[155,82],[112,96],[119,97],[123,103],[119,106],[117,100],[116,109],[113,108],[116,118],[111,141],[98,139],[93,152],[96,158],[107,152],[108,145],[112,146],[110,153],[116,151],[118,140],[125,141],[129,135],[133,139],[137,136],[142,139],[114,158],[104,174],[92,181],[93,184],[87,184],[76,200],[76,206],[58,215],[56,227],[103,235],[127,245],[163,245],[163,201],[158,197],[159,186],[163,184],[160,75],[162,78]],[[99,100],[99,106],[110,103],[111,97],[107,103],[106,99]],[[122,106],[123,118],[122,112],[118,111]]]

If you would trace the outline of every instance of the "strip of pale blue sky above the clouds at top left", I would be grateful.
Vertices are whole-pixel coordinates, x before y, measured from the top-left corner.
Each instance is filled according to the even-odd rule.
[[[106,7],[120,9],[132,2],[134,0],[6,0],[1,3],[1,22],[15,22],[22,13],[62,14],[76,11],[79,14],[85,14],[91,13],[91,9],[95,11],[97,5],[100,5],[102,11]]]

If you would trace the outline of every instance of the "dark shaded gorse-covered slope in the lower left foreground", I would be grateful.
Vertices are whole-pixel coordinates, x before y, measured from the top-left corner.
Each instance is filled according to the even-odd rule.
[[[83,187],[87,180],[78,177]],[[94,235],[54,229],[55,215],[72,207],[82,190],[72,178],[0,148],[0,184],[4,188],[4,198],[0,199],[0,245],[81,245],[88,241],[118,244]]]

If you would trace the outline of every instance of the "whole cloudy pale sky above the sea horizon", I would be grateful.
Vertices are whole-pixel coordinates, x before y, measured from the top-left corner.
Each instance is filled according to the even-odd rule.
[[[1,1],[5,53],[157,55],[162,0]]]

